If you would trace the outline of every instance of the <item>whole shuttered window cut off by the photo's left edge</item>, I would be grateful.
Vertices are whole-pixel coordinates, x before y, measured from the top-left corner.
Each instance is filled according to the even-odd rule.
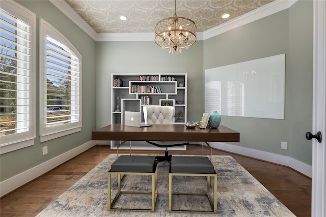
[[[36,16],[13,1],[0,6],[0,151],[34,145]]]

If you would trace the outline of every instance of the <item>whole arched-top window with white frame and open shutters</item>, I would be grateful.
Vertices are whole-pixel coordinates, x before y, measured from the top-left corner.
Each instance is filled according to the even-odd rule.
[[[81,59],[57,29],[40,19],[40,142],[81,130]]]

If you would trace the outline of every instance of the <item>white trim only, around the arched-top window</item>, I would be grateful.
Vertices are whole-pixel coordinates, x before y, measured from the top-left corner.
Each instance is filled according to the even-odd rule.
[[[65,45],[78,56],[80,59],[80,66],[82,65],[82,55],[77,49],[64,37],[55,27],[40,18],[40,52],[39,52],[39,82],[40,82],[40,142],[45,142],[51,139],[66,136],[82,130],[82,69],[80,68],[80,85],[79,85],[79,108],[80,120],[74,123],[67,123],[65,125],[55,126],[51,128],[46,127],[46,35],[50,33],[56,36]]]

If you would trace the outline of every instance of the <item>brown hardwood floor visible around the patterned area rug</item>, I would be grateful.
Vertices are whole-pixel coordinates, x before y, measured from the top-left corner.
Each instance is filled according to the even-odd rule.
[[[110,146],[96,145],[1,198],[0,216],[35,216],[111,153],[116,153],[116,150],[111,150]],[[129,153],[129,151],[120,150],[119,153]],[[164,151],[132,150],[132,153],[164,154]],[[188,145],[186,151],[169,151],[169,153],[200,154],[201,146]],[[204,154],[210,154],[206,147]],[[214,149],[213,154],[232,156],[296,216],[311,216],[310,178],[287,167],[221,150]]]

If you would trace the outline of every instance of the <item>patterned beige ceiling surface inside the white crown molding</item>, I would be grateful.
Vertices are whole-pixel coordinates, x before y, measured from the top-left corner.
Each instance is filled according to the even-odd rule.
[[[197,32],[218,26],[275,0],[177,0],[176,14],[192,19]],[[171,0],[65,0],[96,33],[152,33],[155,24],[174,15]],[[222,14],[230,13],[227,19]],[[126,16],[122,21],[119,16]]]

